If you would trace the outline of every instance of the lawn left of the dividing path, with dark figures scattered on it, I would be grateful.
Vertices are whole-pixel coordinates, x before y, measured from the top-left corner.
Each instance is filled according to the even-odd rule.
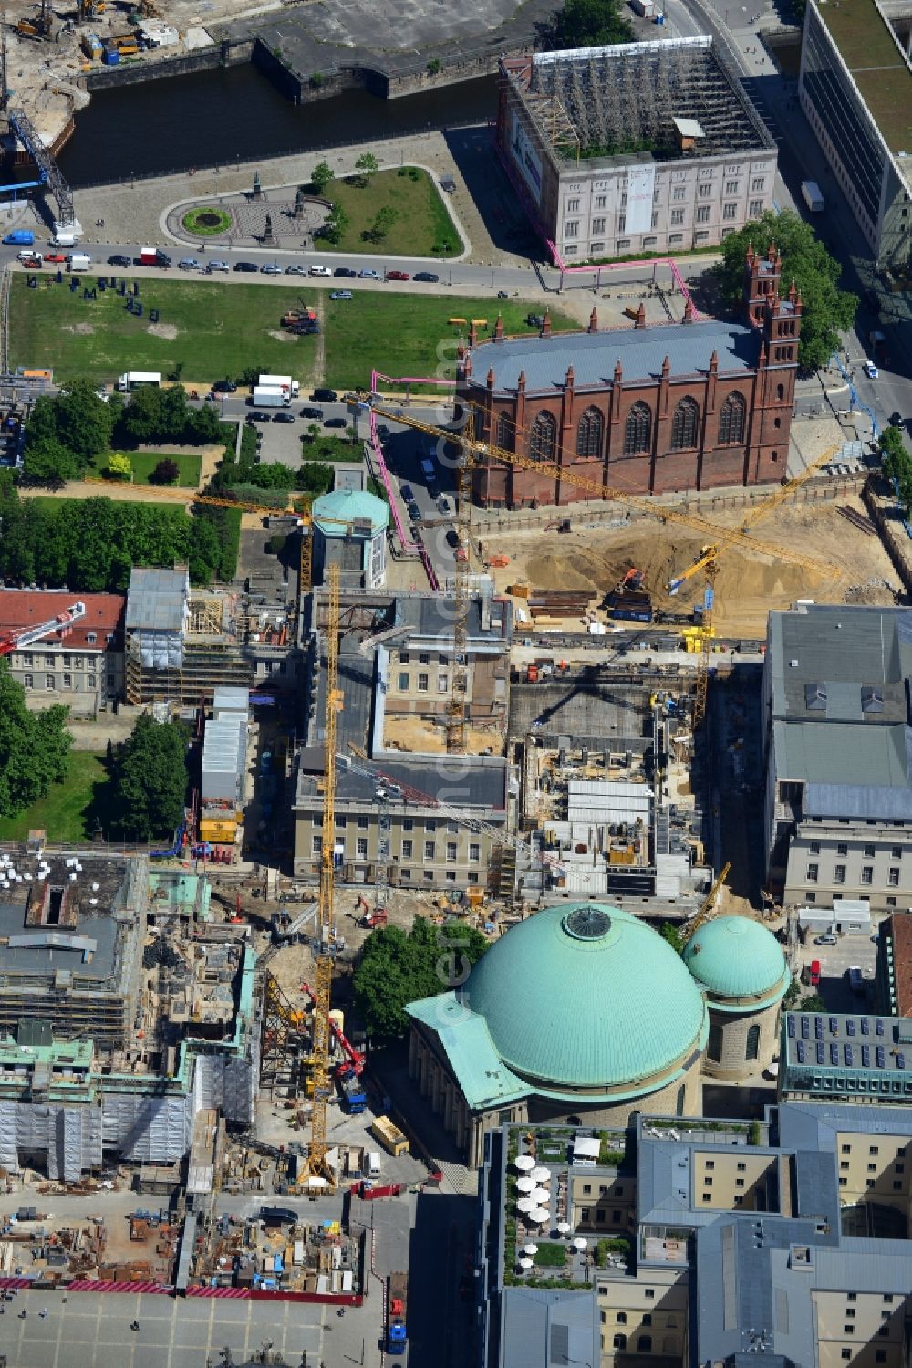
[[[305,291],[308,302],[313,300],[306,282],[271,289],[234,280],[142,280],[141,290],[146,316],[137,319],[111,291],[83,300],[48,278],[29,290],[26,278],[16,275],[11,364],[51,365],[55,380],[63,383],[78,376],[113,380],[126,369],[170,375],[179,364],[180,379],[200,386],[235,376],[247,365],[290,373],[302,387],[316,379],[317,338],[294,337],[280,324]],[[157,324],[149,323],[150,308],[160,312]]]

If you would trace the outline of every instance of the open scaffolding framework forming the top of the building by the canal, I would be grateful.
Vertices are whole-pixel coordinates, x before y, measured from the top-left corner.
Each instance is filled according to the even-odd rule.
[[[768,141],[711,38],[537,53],[511,81],[563,160],[706,157]],[[682,120],[699,124],[696,137]]]

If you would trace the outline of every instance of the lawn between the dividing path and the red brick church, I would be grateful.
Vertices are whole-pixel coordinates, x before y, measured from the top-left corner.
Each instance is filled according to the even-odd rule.
[[[442,278],[446,279],[443,271]],[[539,312],[539,305],[533,312]],[[386,291],[358,291],[353,300],[325,301],[325,380],[336,389],[366,386],[371,368],[386,375],[440,375],[455,376],[455,352],[468,337],[466,324],[447,320],[484,319],[479,339],[494,334],[498,313],[503,317],[503,331],[536,335],[526,326],[529,304],[521,300],[477,300],[447,293],[446,298],[432,294],[401,294]],[[551,311],[551,327],[556,331],[578,328],[580,324],[565,313]]]

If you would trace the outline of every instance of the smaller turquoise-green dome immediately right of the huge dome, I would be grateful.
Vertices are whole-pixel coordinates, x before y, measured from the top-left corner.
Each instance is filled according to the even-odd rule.
[[[684,963],[711,999],[762,997],[773,1003],[792,981],[775,936],[749,917],[707,922],[688,941]]]

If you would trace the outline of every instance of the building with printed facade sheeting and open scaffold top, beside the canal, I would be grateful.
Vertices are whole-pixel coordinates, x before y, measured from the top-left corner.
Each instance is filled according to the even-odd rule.
[[[505,59],[496,141],[567,264],[710,246],[773,208],[775,142],[708,37]]]

